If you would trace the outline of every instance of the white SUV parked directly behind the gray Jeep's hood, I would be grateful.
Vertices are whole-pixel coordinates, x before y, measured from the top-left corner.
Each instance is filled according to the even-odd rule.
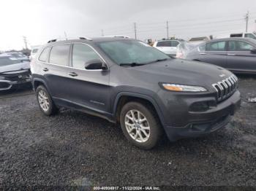
[[[161,40],[154,42],[153,47],[156,47],[166,55],[176,56],[177,46],[180,43],[178,40]]]

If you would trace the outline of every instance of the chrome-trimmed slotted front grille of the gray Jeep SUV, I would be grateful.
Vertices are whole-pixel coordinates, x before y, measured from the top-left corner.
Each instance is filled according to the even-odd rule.
[[[222,101],[230,97],[230,95],[233,95],[233,93],[236,91],[238,86],[238,78],[235,75],[232,75],[220,82],[213,84],[212,86],[217,91],[217,101]]]

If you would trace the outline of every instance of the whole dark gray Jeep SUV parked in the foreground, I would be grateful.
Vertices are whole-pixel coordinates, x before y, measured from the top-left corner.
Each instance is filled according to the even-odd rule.
[[[52,40],[31,72],[44,114],[67,107],[103,117],[143,149],[162,133],[176,141],[219,130],[240,104],[230,71],[170,58],[135,39]]]

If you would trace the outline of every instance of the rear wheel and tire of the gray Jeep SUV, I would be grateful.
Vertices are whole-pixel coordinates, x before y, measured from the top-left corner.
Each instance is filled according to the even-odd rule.
[[[39,85],[37,87],[36,94],[39,109],[43,112],[43,114],[50,116],[58,112],[58,108],[53,103],[53,100],[45,86]]]

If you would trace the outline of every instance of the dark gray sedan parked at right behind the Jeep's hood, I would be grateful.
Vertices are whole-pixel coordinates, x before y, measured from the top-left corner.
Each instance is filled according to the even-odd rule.
[[[234,73],[256,74],[256,40],[215,39],[189,50],[184,58],[212,63]]]

